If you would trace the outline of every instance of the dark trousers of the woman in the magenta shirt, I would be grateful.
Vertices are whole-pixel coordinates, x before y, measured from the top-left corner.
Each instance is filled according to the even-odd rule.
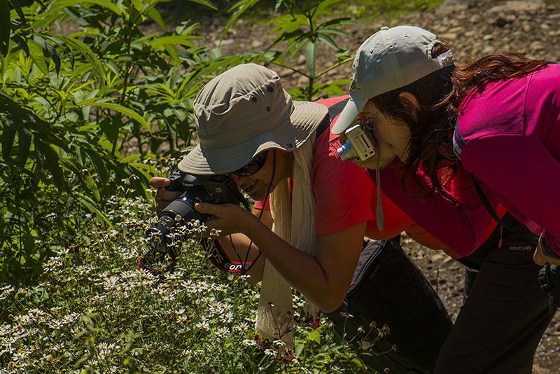
[[[475,254],[477,269],[467,268],[465,303],[437,358],[436,374],[531,373],[552,319],[538,282],[542,266],[533,262],[535,240],[503,230],[498,248],[499,234],[498,226],[483,245],[482,263]]]

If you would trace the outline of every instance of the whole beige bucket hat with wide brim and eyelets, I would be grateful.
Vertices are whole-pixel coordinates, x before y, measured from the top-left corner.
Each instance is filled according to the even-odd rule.
[[[241,64],[216,76],[193,104],[200,144],[179,163],[191,174],[225,174],[269,148],[295,151],[328,113],[296,102],[280,77],[258,64]]]

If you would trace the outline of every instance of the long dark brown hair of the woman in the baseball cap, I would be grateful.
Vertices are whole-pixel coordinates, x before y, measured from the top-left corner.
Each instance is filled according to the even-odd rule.
[[[436,43],[432,56],[449,50]],[[402,88],[370,99],[384,116],[410,130],[408,158],[401,183],[414,198],[427,198],[434,192],[456,201],[444,185],[454,176],[458,161],[451,148],[458,107],[467,95],[489,81],[514,79],[542,69],[545,60],[531,60],[516,53],[500,52],[473,60],[463,67],[445,67]],[[401,92],[410,92],[419,104],[417,108]],[[430,183],[416,173],[423,170]],[[409,176],[420,188],[412,194]]]

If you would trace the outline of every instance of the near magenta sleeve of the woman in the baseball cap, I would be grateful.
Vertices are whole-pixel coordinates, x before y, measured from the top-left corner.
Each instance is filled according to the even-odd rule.
[[[517,209],[531,228],[545,228],[549,247],[560,254],[560,163],[535,136],[472,139],[461,153],[466,169]],[[512,207],[506,204],[509,202]],[[534,231],[534,228],[533,228]],[[539,234],[539,233],[537,233]]]

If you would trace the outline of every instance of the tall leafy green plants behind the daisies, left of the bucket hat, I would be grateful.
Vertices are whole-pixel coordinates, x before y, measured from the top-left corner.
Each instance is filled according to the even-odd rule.
[[[72,233],[64,219],[71,209],[109,225],[99,205],[123,181],[145,195],[153,171],[146,161],[190,146],[200,87],[254,57],[197,46],[196,23],[168,31],[161,2],[57,0],[21,8],[10,0],[8,37],[7,3],[0,4],[0,45],[10,41],[0,48],[0,280],[32,275],[33,264],[61,245],[52,240],[57,233],[40,230],[45,214],[54,213],[50,228]],[[148,18],[157,31],[144,32]],[[16,263],[25,271],[13,272]]]

